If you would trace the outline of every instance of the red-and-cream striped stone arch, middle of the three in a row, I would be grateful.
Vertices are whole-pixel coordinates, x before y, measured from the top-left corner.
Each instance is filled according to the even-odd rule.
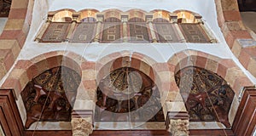
[[[128,63],[127,63],[128,62]],[[169,93],[172,91],[172,81],[170,65],[166,63],[157,63],[154,59],[145,54],[137,52],[123,51],[119,53],[108,54],[96,62],[96,86],[95,90],[104,77],[108,76],[110,71],[118,70],[122,67],[131,67],[137,71],[143,72],[148,76],[160,91],[160,103],[166,106],[166,99],[172,97]],[[176,97],[176,95],[174,96]],[[163,108],[166,116],[166,109]]]

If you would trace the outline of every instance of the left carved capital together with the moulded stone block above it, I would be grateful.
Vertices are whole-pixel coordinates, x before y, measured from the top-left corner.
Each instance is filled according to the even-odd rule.
[[[88,136],[93,131],[93,111],[73,111],[71,119],[73,136]]]

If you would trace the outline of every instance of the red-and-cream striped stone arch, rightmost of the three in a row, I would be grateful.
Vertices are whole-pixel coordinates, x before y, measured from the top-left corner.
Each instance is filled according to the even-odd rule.
[[[247,78],[247,76],[241,71],[241,69],[232,59],[221,59],[217,56],[203,53],[201,51],[184,50],[174,54],[172,58],[168,60],[168,64],[170,64],[172,67],[171,72],[173,75],[175,75],[177,71],[192,65],[212,71],[228,82],[230,88],[232,88],[235,92],[235,97],[229,112],[230,124],[233,123],[236,116],[236,111],[239,105],[238,97],[241,94],[242,88],[253,86],[253,82]],[[177,89],[177,91],[179,91],[175,78],[171,78],[173,81],[172,89]]]

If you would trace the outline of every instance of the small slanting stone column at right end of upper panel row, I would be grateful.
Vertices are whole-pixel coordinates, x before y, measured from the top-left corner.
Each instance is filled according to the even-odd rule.
[[[195,15],[195,20],[201,26],[202,30],[205,31],[207,37],[210,39],[210,42],[217,43],[217,39],[213,37],[212,31],[204,25],[203,20],[201,20],[201,15]]]

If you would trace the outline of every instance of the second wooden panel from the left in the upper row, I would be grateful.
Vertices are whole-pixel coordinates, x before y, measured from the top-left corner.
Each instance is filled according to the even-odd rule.
[[[91,42],[95,36],[96,22],[95,23],[79,23],[70,42]]]

